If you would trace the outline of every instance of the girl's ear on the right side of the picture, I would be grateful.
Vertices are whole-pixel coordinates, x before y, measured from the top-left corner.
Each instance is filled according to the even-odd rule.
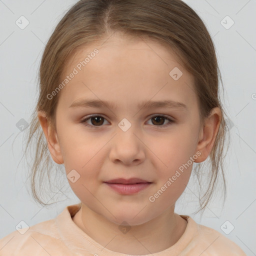
[[[210,154],[221,122],[221,118],[222,114],[220,108],[212,108],[209,116],[205,119],[204,125],[200,130],[195,152],[200,151],[201,155],[199,155],[194,160],[194,162],[202,162]]]

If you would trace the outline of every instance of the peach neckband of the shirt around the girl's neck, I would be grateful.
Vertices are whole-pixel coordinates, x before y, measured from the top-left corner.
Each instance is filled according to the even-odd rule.
[[[74,252],[89,252],[91,254],[97,253],[103,256],[136,256],[134,254],[125,254],[117,251],[112,251],[88,236],[83,230],[81,230],[72,220],[72,217],[80,209],[81,203],[66,206],[64,210],[55,218],[56,226],[59,231],[60,237],[66,246]],[[178,241],[162,251],[153,253],[154,256],[162,256],[163,254],[170,254],[173,256],[179,255],[190,243],[194,237],[197,224],[188,215],[180,215],[187,220],[187,225],[182,236]],[[141,256],[151,256],[152,254],[143,254]]]

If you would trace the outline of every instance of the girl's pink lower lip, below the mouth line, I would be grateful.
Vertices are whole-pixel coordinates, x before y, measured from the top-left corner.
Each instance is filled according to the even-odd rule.
[[[120,194],[133,194],[137,193],[140,190],[148,187],[151,182],[147,183],[135,183],[135,184],[120,184],[120,183],[106,183],[108,186],[110,186],[113,190]]]

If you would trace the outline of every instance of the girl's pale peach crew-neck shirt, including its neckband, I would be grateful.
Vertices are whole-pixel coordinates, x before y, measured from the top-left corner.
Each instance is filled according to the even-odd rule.
[[[30,226],[24,233],[13,231],[0,239],[0,256],[128,256],[103,247],[72,220],[80,203],[69,205],[54,219]],[[242,249],[220,232],[180,215],[187,226],[171,247],[144,256],[246,256]]]

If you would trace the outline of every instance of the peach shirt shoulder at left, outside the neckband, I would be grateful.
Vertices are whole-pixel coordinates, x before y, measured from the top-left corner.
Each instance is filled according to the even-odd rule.
[[[0,239],[1,256],[48,256],[56,250],[66,253],[67,248],[60,239],[55,219],[37,223],[28,229],[20,228]],[[62,255],[69,255],[65,253]]]

